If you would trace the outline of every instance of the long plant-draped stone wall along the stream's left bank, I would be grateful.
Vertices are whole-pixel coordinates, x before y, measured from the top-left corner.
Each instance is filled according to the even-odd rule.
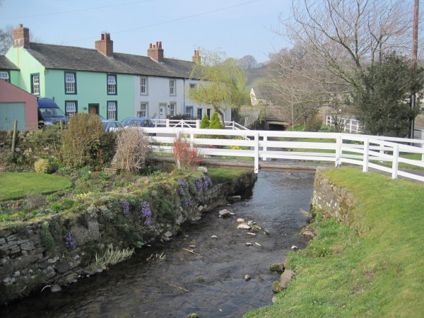
[[[254,173],[247,172],[231,182],[214,184],[202,190],[202,198],[193,194],[183,197],[175,188],[165,189],[173,215],[170,220],[153,219],[148,227],[141,226],[139,211],[130,211],[128,215],[112,212],[110,202],[118,208],[122,204],[112,198],[108,203],[104,200],[91,204],[80,213],[61,213],[1,228],[0,302],[23,297],[45,285],[64,285],[76,282],[83,275],[102,271],[94,262],[95,252],[108,246],[134,247],[134,235],[142,237],[143,243],[169,240],[177,234],[184,220],[200,218],[204,211],[224,204],[228,196],[252,187],[256,178]],[[135,195],[143,196],[142,193]],[[187,197],[189,205],[184,204]],[[158,195],[156,200],[158,202],[150,202],[151,206],[160,206],[164,198]]]

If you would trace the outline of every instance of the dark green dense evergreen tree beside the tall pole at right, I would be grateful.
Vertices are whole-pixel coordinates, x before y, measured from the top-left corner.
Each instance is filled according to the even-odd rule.
[[[384,54],[368,68],[363,85],[355,89],[353,104],[366,134],[405,137],[411,119],[419,112],[406,102],[411,91],[423,88],[423,80],[411,63],[396,53]]]

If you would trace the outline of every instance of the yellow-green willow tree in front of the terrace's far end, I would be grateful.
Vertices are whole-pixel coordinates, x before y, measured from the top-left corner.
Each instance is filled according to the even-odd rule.
[[[247,102],[244,73],[234,59],[225,59],[225,53],[202,52],[202,64],[195,64],[190,76],[200,82],[196,88],[190,88],[189,98],[199,104],[212,105],[224,125],[227,107],[237,108]]]

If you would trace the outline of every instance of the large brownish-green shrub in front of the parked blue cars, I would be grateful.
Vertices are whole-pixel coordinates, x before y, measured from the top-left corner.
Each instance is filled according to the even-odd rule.
[[[98,151],[103,126],[100,117],[87,113],[75,114],[69,119],[64,131],[62,160],[70,167],[97,164]]]

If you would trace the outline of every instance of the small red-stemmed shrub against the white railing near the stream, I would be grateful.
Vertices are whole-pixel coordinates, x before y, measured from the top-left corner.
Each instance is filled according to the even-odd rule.
[[[194,170],[201,163],[199,149],[181,134],[178,134],[174,139],[172,154],[175,156],[178,169]]]

